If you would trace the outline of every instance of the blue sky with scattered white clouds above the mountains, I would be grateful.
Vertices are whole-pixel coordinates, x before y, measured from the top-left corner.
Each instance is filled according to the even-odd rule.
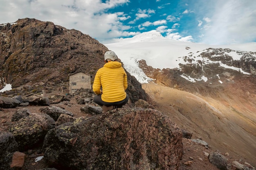
[[[103,44],[158,30],[206,44],[256,42],[256,0],[0,0],[0,24],[51,21]]]

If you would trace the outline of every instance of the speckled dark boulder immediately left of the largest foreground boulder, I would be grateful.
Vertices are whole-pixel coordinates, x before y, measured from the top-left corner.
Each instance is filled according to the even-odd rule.
[[[55,121],[44,113],[32,113],[13,124],[9,131],[18,142],[19,151],[31,149],[43,142],[48,130],[55,127]]]

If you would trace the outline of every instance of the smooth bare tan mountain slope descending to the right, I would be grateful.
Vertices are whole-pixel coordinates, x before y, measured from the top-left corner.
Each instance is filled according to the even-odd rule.
[[[146,93],[157,102],[178,126],[202,138],[214,149],[240,155],[256,162],[256,124],[251,112],[238,113],[221,101],[153,83],[143,84]],[[240,107],[240,109],[246,108]],[[245,111],[245,110],[244,110]]]

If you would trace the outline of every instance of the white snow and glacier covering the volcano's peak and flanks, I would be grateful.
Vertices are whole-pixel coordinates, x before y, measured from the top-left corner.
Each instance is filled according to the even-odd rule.
[[[193,42],[181,42],[164,38],[161,33],[156,30],[144,32],[132,38],[123,39],[120,42],[104,45],[107,46],[109,50],[115,51],[117,56],[124,63],[124,68],[141,83],[147,83],[150,81],[150,78],[139,68],[140,60],[145,60],[148,66],[159,69],[181,68],[181,65],[195,64],[198,62],[201,66],[209,63],[219,63],[222,67],[249,74],[240,67],[222,63],[220,60],[216,60],[216,58],[231,56],[230,60],[232,61],[240,60],[240,58],[245,55],[256,58],[256,53],[250,52],[255,51],[256,43],[213,46]],[[217,56],[214,49],[231,50],[226,50],[221,54],[219,53]],[[211,54],[211,58],[200,55],[201,53],[205,53],[205,51]],[[189,77],[186,75],[183,76],[184,78]]]

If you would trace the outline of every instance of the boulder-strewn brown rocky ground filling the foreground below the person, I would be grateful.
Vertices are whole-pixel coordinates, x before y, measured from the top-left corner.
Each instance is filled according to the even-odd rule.
[[[148,153],[150,151],[150,153],[152,154],[153,152],[158,150],[157,152],[163,152],[165,153],[164,155],[170,154],[170,156],[168,156],[169,158],[173,157],[173,154],[178,154],[177,157],[179,157],[179,159],[171,159],[171,161],[167,161],[167,163],[168,162],[170,163],[168,165],[169,168],[172,167],[171,164],[175,165],[175,167],[171,169],[244,170],[247,168],[248,170],[254,170],[252,165],[250,165],[248,161],[245,158],[241,157],[240,155],[232,154],[229,152],[225,152],[225,153],[220,152],[220,150],[214,149],[210,144],[207,144],[205,141],[203,141],[202,137],[198,137],[195,134],[192,135],[191,132],[184,130],[183,129],[184,127],[179,128],[177,124],[174,124],[174,122],[172,122],[173,120],[175,120],[173,119],[173,117],[176,114],[174,109],[173,110],[165,109],[163,106],[160,106],[158,104],[151,105],[145,101],[139,100],[135,102],[135,106],[133,107],[130,106],[129,104],[126,104],[124,108],[111,110],[106,114],[102,114],[101,108],[100,107],[98,108],[97,106],[95,107],[94,106],[95,103],[92,102],[93,93],[91,90],[81,89],[74,95],[64,95],[64,94],[58,95],[57,94],[59,93],[58,91],[55,91],[55,93],[56,93],[56,96],[58,96],[58,98],[60,99],[59,102],[56,102],[57,101],[56,97],[51,98],[51,96],[53,96],[53,93],[51,95],[48,94],[47,98],[49,97],[49,103],[46,104],[45,106],[39,106],[38,103],[36,104],[34,100],[34,102],[31,102],[31,104],[29,104],[28,106],[20,106],[21,104],[20,103],[16,107],[13,106],[11,108],[7,108],[7,105],[5,105],[4,102],[2,102],[1,104],[2,108],[0,111],[0,118],[1,118],[0,143],[1,143],[1,151],[3,152],[0,159],[2,164],[1,169],[7,170],[8,165],[11,165],[12,167],[11,169],[21,169],[21,170],[31,170],[31,169],[41,170],[43,168],[48,168],[49,170],[55,170],[53,167],[57,169],[62,169],[62,170],[70,169],[70,167],[73,167],[73,168],[76,167],[76,169],[80,169],[79,167],[83,166],[80,163],[84,162],[85,160],[92,159],[90,157],[86,158],[82,155],[81,156],[70,155],[70,154],[77,154],[75,152],[80,152],[81,150],[83,150],[82,153],[88,152],[89,155],[96,156],[97,154],[99,154],[98,157],[102,161],[102,163],[100,161],[98,164],[91,164],[91,166],[94,166],[94,169],[98,169],[99,167],[101,167],[100,169],[118,168],[120,165],[117,165],[115,163],[106,164],[106,161],[103,161],[103,160],[105,157],[104,155],[107,154],[108,160],[117,161],[116,160],[117,157],[116,156],[113,157],[113,155],[119,155],[120,152],[121,153],[126,152],[125,153],[126,158],[125,159],[123,158],[123,161],[127,161],[129,157],[131,159],[131,162],[133,161],[133,164],[130,164],[131,162],[130,163],[127,162],[128,164],[124,162],[121,165],[122,169],[130,169],[128,168],[129,166],[134,166],[133,168],[135,168],[136,165],[141,168],[137,167],[135,169],[144,170],[145,168],[148,168],[148,165],[151,165],[150,169],[157,169],[157,168],[152,168],[152,166],[155,166],[155,167],[157,166],[151,163],[158,162],[158,161],[156,160],[153,161],[153,158],[150,158],[146,155],[143,156],[143,153],[146,153],[146,152]],[[20,100],[25,102],[26,98],[20,97]],[[4,101],[3,98],[1,98],[1,101]],[[53,103],[53,101],[55,104]],[[88,106],[90,106],[89,108],[91,109],[88,109]],[[164,111],[165,115],[157,110],[153,110],[150,108],[157,108],[157,109],[161,108],[159,110]],[[45,119],[43,118],[45,116],[41,114],[43,115],[47,114],[52,118],[47,117],[47,119]],[[130,114],[135,114],[135,115],[130,115]],[[120,117],[120,115],[122,116]],[[166,117],[166,115],[168,118]],[[37,121],[37,119],[38,120],[45,119],[45,121],[49,123],[46,124],[45,121],[43,121],[45,122],[43,123],[42,121]],[[164,120],[168,122],[161,123],[159,125],[153,125],[159,122],[159,120],[157,121],[157,119],[162,119],[162,121]],[[64,124],[66,122],[70,122],[70,123]],[[109,123],[111,122],[111,124],[109,124],[108,122]],[[87,125],[81,125],[81,123],[87,124]],[[106,127],[103,126],[104,124],[105,126],[108,127],[108,132],[106,132]],[[170,128],[171,127],[174,128],[171,130],[171,133],[173,133],[173,135],[170,135],[169,130],[166,131],[168,132],[167,133],[168,135],[164,131],[155,132],[155,130],[160,130],[160,129],[167,130],[168,128],[166,129],[166,125],[170,126]],[[39,137],[39,136],[41,136],[42,134],[45,135],[45,132],[41,130],[38,131],[37,130],[38,128],[33,128],[38,126],[43,126],[44,127],[43,129],[48,127],[48,130],[56,126],[58,126],[58,128],[54,128],[54,131],[53,130],[50,131],[53,134],[48,132],[45,139],[43,139],[42,137]],[[76,128],[72,126],[76,126]],[[156,129],[150,128],[153,126],[157,128]],[[86,127],[90,128],[90,130],[89,129],[79,130],[79,128],[86,128]],[[71,130],[70,128],[73,130]],[[134,132],[129,130],[129,132],[127,133],[126,130],[128,129],[132,129],[134,130]],[[102,130],[103,131],[105,130],[105,132],[101,133]],[[149,130],[148,131],[149,133],[143,132],[145,130],[146,131]],[[181,135],[179,132],[180,130],[182,131],[183,138],[181,138],[180,136]],[[143,133],[138,133],[139,131]],[[11,134],[15,136],[15,139],[13,140],[11,136],[9,138],[6,138],[7,132],[11,132]],[[83,134],[79,135],[78,132],[83,132]],[[85,132],[89,132],[91,134],[85,135]],[[107,136],[105,136],[106,134],[108,134],[107,136],[113,137],[113,138],[107,139],[106,138]],[[174,145],[171,144],[172,145],[171,148],[166,148],[167,147],[166,145],[168,143],[167,141],[165,141],[166,140],[165,138],[162,138],[162,135],[164,134],[167,135],[166,137],[171,137],[170,138],[171,140],[177,139],[178,141],[175,141]],[[178,136],[176,136],[175,134]],[[100,135],[103,135],[105,137],[101,137]],[[160,138],[157,139],[155,135],[157,135],[157,138],[159,137]],[[80,139],[79,136],[84,136],[84,137],[94,136],[92,138],[83,139],[85,141],[90,140],[92,142],[93,145],[87,145],[88,148],[92,147],[91,148],[92,151],[84,147],[84,145],[87,142],[80,141],[82,139]],[[38,139],[40,140],[38,141]],[[111,144],[109,143],[108,145],[106,145],[105,143],[108,141],[104,141],[103,139],[110,140]],[[153,143],[150,142],[152,141],[152,139],[154,139]],[[164,141],[162,141],[163,139]],[[18,145],[17,143],[15,145],[14,141],[16,140]],[[51,140],[54,140],[54,141],[51,141]],[[145,140],[147,141],[146,145],[144,145]],[[104,145],[99,146],[101,145],[101,142],[99,143],[99,141],[103,142]],[[124,150],[122,149],[122,147],[120,148],[120,146],[122,145],[127,145],[125,141],[131,142],[129,144],[131,147],[130,149],[127,148],[127,150],[126,149]],[[80,145],[83,145],[83,146],[80,146]],[[97,148],[95,148],[95,146],[97,146]],[[106,146],[111,146],[111,149],[106,148]],[[149,146],[150,148],[147,148]],[[47,149],[48,147],[49,149]],[[61,148],[61,147],[64,147],[64,148]],[[102,149],[99,149],[101,147]],[[162,148],[162,147],[165,147],[165,148]],[[17,149],[15,150],[15,148]],[[54,154],[52,153],[53,149],[55,150]],[[10,150],[13,150],[12,152],[14,151],[16,152],[14,152],[13,155],[4,154],[5,150],[7,150],[6,151],[7,153],[9,153]],[[76,151],[74,152],[74,150]],[[139,153],[141,153],[142,155],[139,156],[140,155]],[[61,159],[56,159],[59,157],[59,156],[56,157],[56,154],[61,154],[61,155],[67,154],[67,155],[65,156],[65,158],[63,157]],[[100,155],[102,155],[103,157],[100,158]],[[157,155],[159,157],[158,159],[166,159],[164,158],[166,156],[163,157],[161,156],[161,154],[157,154]],[[136,161],[136,159],[133,158],[134,156],[137,157],[136,159],[141,159],[141,157],[144,157],[143,159],[144,161]],[[217,159],[215,158],[215,156],[217,156]],[[219,157],[221,157],[221,159]],[[95,159],[96,158],[94,158],[93,162],[95,162]],[[146,163],[148,161],[147,159],[152,159],[150,162],[148,162],[149,164]],[[76,164],[75,162],[77,162],[78,164]],[[159,163],[160,162],[162,161],[159,161]],[[112,167],[113,165],[115,165],[115,168]],[[169,168],[165,167],[164,169],[169,169]]]

